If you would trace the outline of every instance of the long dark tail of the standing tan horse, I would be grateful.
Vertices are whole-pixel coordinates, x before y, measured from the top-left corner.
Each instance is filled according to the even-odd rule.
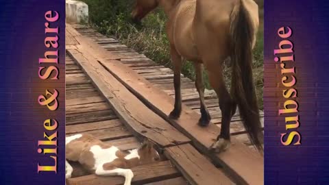
[[[250,140],[259,151],[263,151],[263,132],[252,79],[255,28],[243,1],[234,7],[231,14],[232,97],[239,106],[240,116]]]

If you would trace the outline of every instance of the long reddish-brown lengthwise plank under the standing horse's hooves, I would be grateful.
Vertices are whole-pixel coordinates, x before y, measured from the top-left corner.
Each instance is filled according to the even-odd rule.
[[[194,110],[182,106],[182,115],[180,119],[173,120],[168,118],[169,112],[173,109],[174,100],[162,90],[152,86],[150,82],[138,75],[132,69],[118,60],[103,60],[110,53],[106,53],[95,42],[88,38],[77,39],[84,45],[89,45],[89,51],[99,56],[97,59],[103,66],[114,75],[122,84],[125,85],[134,95],[141,99],[149,108],[152,108],[163,119],[169,121],[180,132],[183,132],[193,140],[193,144],[199,150],[206,153],[214,162],[221,166],[239,184],[263,184],[264,181],[264,163],[263,156],[252,151],[247,146],[240,143],[232,136],[232,146],[223,153],[209,153],[208,148],[214,143],[220,130],[215,124],[210,123],[208,127],[199,127],[197,121],[199,114]],[[252,170],[250,169],[252,167]]]

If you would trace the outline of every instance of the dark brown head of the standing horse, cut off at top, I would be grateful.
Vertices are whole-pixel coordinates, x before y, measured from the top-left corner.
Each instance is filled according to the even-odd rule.
[[[149,12],[158,6],[158,0],[136,0],[132,10],[132,20],[140,22]]]

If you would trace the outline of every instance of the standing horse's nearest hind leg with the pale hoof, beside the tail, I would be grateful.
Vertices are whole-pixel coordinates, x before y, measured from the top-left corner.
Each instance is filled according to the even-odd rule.
[[[234,101],[226,88],[221,64],[218,64],[217,68],[208,71],[210,84],[217,93],[219,108],[221,109],[221,133],[217,137],[217,142],[212,144],[211,149],[220,152],[230,147],[230,121],[236,106],[234,108]]]

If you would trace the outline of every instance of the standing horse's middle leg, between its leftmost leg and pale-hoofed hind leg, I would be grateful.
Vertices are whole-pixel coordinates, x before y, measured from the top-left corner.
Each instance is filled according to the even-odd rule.
[[[208,112],[207,106],[204,103],[204,78],[202,75],[203,65],[201,62],[194,62],[195,67],[195,87],[199,93],[200,98],[200,113],[201,118],[199,119],[199,125],[207,126],[210,122],[210,114]]]

